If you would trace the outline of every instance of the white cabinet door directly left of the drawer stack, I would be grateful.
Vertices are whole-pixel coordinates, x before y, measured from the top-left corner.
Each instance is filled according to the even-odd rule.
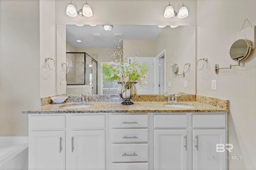
[[[67,135],[68,170],[105,170],[105,130],[74,130]]]

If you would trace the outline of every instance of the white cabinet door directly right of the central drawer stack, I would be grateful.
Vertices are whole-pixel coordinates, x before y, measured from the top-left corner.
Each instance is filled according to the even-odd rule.
[[[187,169],[187,130],[154,130],[154,170]]]

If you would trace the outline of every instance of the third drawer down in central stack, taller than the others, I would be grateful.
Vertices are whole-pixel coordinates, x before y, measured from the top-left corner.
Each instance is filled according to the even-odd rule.
[[[112,162],[148,162],[148,144],[112,144]]]

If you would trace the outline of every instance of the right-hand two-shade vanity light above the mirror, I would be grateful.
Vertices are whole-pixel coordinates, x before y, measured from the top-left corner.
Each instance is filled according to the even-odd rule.
[[[180,4],[182,4],[182,6],[179,9]],[[183,2],[180,2],[180,4],[178,5],[177,10],[174,11],[171,2],[169,2],[169,5],[164,10],[164,18],[174,18],[175,16],[177,16],[178,9],[178,18],[186,18],[188,16],[188,8],[184,6]]]

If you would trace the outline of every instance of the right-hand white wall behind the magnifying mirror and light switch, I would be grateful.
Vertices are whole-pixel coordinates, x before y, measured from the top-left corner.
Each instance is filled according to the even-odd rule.
[[[214,65],[228,67],[236,62],[228,54],[236,33],[248,18],[256,25],[255,0],[197,1],[197,59],[208,57],[208,63],[197,74],[198,95],[230,100],[228,143],[234,144],[230,155],[243,160],[230,160],[230,170],[256,169],[256,51],[240,67],[214,73]],[[245,24],[244,28],[250,25]],[[211,80],[217,80],[217,91],[211,90]]]

